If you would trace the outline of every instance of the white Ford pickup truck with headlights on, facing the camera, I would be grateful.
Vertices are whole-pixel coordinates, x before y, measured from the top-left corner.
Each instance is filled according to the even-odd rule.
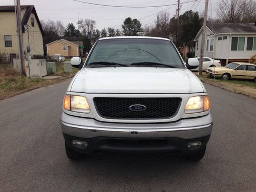
[[[212,130],[209,98],[173,42],[158,37],[97,40],[63,100],[68,158],[95,151],[175,152],[200,160]]]

